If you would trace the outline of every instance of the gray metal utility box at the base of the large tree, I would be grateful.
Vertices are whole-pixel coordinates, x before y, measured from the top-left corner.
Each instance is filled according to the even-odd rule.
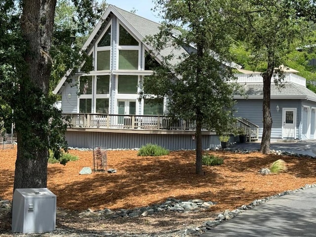
[[[12,232],[54,231],[56,195],[48,189],[16,189],[13,194]]]

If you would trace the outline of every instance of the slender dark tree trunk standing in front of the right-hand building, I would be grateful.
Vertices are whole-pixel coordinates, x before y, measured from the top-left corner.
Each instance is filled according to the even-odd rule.
[[[268,56],[269,63],[267,71],[263,74],[263,133],[261,140],[260,152],[263,154],[270,153],[270,140],[271,140],[271,128],[272,117],[270,109],[270,97],[271,97],[271,78],[273,76],[275,64],[273,60],[273,54]]]

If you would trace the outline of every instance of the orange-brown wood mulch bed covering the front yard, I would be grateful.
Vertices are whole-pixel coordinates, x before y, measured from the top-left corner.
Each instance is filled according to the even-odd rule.
[[[177,151],[162,157],[138,157],[136,151],[108,151],[107,168],[117,173],[79,175],[86,166],[93,169],[92,151],[69,151],[79,160],[65,166],[48,164],[47,188],[57,195],[57,206],[71,210],[91,208],[134,208],[160,203],[168,197],[215,201],[211,211],[235,209],[254,199],[298,189],[316,183],[316,159],[289,156],[237,154],[209,151],[224,158],[219,166],[203,166],[204,176],[195,174],[195,152]],[[260,175],[282,158],[286,173]],[[0,150],[0,198],[11,199],[16,148]]]

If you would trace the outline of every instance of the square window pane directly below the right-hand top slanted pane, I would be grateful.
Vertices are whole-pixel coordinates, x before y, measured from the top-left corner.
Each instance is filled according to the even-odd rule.
[[[138,50],[119,50],[118,69],[137,70]]]

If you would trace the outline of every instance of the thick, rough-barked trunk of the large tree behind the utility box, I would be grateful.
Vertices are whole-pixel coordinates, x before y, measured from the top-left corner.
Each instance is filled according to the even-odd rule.
[[[55,6],[56,0],[22,2],[21,31],[28,43],[28,50],[24,56],[25,75],[21,79],[17,95],[17,101],[20,101],[21,105],[14,114],[18,118],[28,119],[16,119],[18,148],[13,190],[47,187],[48,148],[41,145],[48,144],[48,136],[44,129],[48,125],[49,117],[45,115],[47,107],[43,106],[43,101],[48,95],[49,88],[49,49]],[[25,103],[24,106],[22,102]]]

